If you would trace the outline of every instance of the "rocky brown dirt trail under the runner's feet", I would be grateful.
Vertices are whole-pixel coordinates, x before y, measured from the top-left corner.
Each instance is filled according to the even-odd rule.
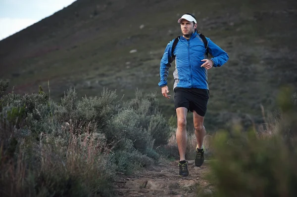
[[[202,174],[209,171],[208,161],[196,167],[190,160],[188,169],[190,176],[179,177],[178,161],[151,166],[141,174],[118,180],[116,194],[124,197],[197,197],[201,193],[212,194],[212,187],[202,178]]]

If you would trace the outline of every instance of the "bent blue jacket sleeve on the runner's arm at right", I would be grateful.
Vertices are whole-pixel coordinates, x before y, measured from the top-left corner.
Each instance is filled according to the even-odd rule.
[[[213,67],[220,67],[229,60],[228,54],[210,39],[208,39],[208,49],[212,55]]]

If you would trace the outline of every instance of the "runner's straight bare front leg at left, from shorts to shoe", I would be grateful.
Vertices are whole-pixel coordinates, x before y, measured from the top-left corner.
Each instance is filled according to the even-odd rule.
[[[176,109],[177,115],[177,129],[176,129],[176,141],[178,151],[180,154],[180,161],[186,160],[186,149],[187,149],[187,113],[188,109],[180,107]]]

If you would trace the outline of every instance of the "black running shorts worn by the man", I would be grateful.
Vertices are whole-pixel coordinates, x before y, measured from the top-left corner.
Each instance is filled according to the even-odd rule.
[[[185,107],[188,109],[188,112],[195,111],[198,115],[204,117],[207,110],[208,99],[208,89],[174,88],[174,110],[179,107]]]

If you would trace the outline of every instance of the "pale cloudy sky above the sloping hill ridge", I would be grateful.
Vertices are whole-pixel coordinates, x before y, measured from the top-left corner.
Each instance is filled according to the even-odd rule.
[[[67,7],[75,0],[0,0],[0,40]]]

